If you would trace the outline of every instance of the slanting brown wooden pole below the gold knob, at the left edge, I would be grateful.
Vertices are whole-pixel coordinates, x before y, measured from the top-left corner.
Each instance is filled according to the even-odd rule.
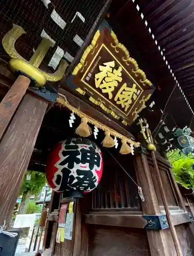
[[[19,76],[0,103],[0,140],[11,121],[21,99],[26,93],[30,79],[26,76]]]

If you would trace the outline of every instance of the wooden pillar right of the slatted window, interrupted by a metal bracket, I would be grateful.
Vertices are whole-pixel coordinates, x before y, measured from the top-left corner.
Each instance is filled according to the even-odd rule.
[[[143,214],[160,214],[159,203],[152,180],[150,167],[147,161],[147,156],[145,154],[141,153],[141,155],[135,156],[135,171],[137,183],[142,188],[145,198],[145,201],[141,202]],[[169,255],[163,230],[147,229],[147,236],[152,256]]]

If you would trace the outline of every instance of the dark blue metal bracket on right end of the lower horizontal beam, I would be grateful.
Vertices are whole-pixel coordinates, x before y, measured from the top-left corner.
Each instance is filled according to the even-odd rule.
[[[168,228],[168,222],[166,215],[143,215],[143,219],[147,220],[147,225],[144,226],[146,229],[165,229]]]

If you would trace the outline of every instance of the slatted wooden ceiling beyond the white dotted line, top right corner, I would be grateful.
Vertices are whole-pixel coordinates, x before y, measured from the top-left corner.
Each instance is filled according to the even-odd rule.
[[[137,0],[166,60],[194,106],[194,1]]]

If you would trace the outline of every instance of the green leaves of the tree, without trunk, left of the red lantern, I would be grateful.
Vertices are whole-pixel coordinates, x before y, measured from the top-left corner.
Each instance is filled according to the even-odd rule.
[[[31,179],[27,180],[27,175],[31,175]],[[45,175],[42,173],[27,170],[25,179],[23,180],[20,195],[30,191],[31,195],[36,195],[41,192],[42,187],[46,184]]]

